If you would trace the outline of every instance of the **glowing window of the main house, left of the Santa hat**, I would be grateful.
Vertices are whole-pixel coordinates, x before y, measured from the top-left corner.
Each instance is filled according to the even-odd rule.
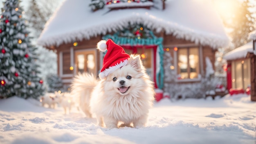
[[[93,73],[96,75],[95,51],[76,51],[75,52],[76,73]]]

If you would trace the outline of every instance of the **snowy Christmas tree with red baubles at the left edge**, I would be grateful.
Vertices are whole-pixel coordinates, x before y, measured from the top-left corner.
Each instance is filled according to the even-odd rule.
[[[0,19],[0,97],[43,95],[35,50],[19,0],[6,0]]]

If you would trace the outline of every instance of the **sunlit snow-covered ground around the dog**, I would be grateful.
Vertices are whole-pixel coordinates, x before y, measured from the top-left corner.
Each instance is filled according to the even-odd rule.
[[[248,95],[216,100],[165,98],[144,128],[101,128],[73,109],[49,109],[19,97],[0,100],[0,144],[256,144],[256,102]]]

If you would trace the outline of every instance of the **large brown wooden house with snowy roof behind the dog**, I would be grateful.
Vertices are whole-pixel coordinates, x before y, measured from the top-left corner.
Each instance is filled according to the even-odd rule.
[[[155,87],[163,89],[164,68],[175,82],[200,82],[208,57],[229,44],[210,0],[65,0],[45,25],[38,44],[56,51],[58,75],[70,84],[78,72],[98,75],[104,53],[96,49],[112,39],[127,53],[139,53]],[[170,53],[170,64],[164,64]]]

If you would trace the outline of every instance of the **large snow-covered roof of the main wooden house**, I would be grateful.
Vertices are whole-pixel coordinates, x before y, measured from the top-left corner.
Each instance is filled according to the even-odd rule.
[[[90,39],[128,26],[144,26],[176,38],[184,38],[213,48],[225,47],[229,39],[211,0],[168,0],[165,9],[120,9],[110,11],[104,7],[93,12],[91,0],[65,0],[45,24],[38,44],[49,47],[75,40]],[[161,0],[154,0],[158,3]]]

